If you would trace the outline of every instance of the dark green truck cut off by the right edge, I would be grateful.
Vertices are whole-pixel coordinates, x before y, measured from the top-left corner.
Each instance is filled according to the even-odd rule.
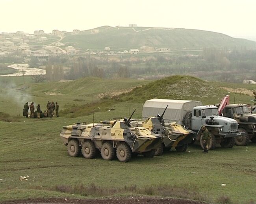
[[[239,124],[238,130],[244,133],[236,137],[236,145],[246,146],[250,140],[256,142],[256,114],[250,113],[247,104],[226,105],[221,115],[235,119]]]

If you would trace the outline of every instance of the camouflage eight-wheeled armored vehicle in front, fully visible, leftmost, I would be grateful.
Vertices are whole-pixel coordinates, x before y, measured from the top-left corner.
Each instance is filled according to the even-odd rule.
[[[60,136],[71,157],[78,157],[82,152],[83,157],[94,158],[97,149],[105,160],[116,156],[119,161],[128,162],[132,153],[154,157],[162,136],[144,127],[132,127],[131,117],[101,124],[63,126]]]

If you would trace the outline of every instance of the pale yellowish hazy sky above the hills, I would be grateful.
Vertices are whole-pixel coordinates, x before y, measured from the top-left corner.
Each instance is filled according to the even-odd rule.
[[[256,38],[256,0],[0,0],[0,32],[128,24]]]

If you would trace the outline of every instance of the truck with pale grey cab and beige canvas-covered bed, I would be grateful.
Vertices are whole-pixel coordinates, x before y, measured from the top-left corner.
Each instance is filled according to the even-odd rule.
[[[153,103],[152,103],[153,102]],[[151,103],[152,107],[149,108]],[[200,104],[198,101],[188,100],[167,100],[167,99],[151,99],[147,100],[143,106],[143,114],[150,114],[158,112],[167,108],[164,120],[168,122],[175,121],[178,124],[186,126],[196,132],[195,140],[200,141],[203,149],[202,141],[202,126],[206,126],[209,130],[211,139],[208,144],[209,149],[215,149],[217,143],[224,148],[233,148],[235,144],[235,137],[244,135],[243,132],[238,131],[237,121],[232,118],[221,117],[218,115],[218,108],[216,106],[196,106]],[[189,108],[191,108],[189,110]]]

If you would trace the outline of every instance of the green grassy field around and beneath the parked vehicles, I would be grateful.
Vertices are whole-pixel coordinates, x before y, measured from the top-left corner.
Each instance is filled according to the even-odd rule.
[[[160,91],[163,85],[173,87],[174,84],[179,84],[181,81],[184,83],[182,76],[170,79],[158,81],[157,83],[161,86],[154,86],[148,84],[150,83],[148,81],[126,79],[108,81],[85,78],[70,83],[27,84],[24,89],[22,89],[24,86],[21,85],[16,87],[19,88],[16,91],[24,95],[30,93],[30,99],[34,101],[44,102],[48,98],[49,100],[58,100],[61,106],[65,107],[64,104],[74,103],[82,106],[91,102],[91,97],[89,97],[91,95],[94,96],[95,102],[100,101],[97,96],[100,93],[108,93],[109,90],[149,85],[147,85],[148,88],[142,86],[126,95],[121,95],[120,100],[111,104],[111,108],[114,110],[95,112],[95,122],[98,122],[113,117],[128,117],[129,106],[130,112],[136,109],[134,117],[141,118],[143,100],[149,94],[147,89],[149,92],[155,90],[154,94],[159,93],[160,98],[165,94],[164,91]],[[191,78],[185,79],[190,81]],[[168,81],[171,82],[166,84]],[[210,83],[197,81],[195,82],[196,86],[198,83],[204,83],[206,90],[210,90],[211,93],[211,96],[206,98],[198,95],[204,100],[204,103],[216,98],[215,101],[212,101],[215,103],[217,96],[221,97],[221,94],[225,93],[217,84],[213,84],[211,87]],[[239,85],[233,84],[221,84],[221,86],[239,87]],[[76,91],[74,91],[75,87]],[[244,88],[250,89],[250,87]],[[5,91],[5,89],[0,90]],[[60,91],[63,95],[47,97],[43,94],[49,91],[54,93]],[[220,92],[215,93],[217,91]],[[1,92],[0,94],[4,95]],[[14,103],[7,100],[7,97],[2,98],[3,95],[0,100],[0,111],[12,115],[21,112],[17,107],[10,105]],[[86,98],[83,95],[90,99],[74,101],[74,98]],[[250,98],[243,94],[230,93],[230,95],[235,95],[241,102],[247,102],[247,99]],[[152,97],[158,96],[152,95]],[[181,197],[211,203],[224,203],[224,201],[217,201],[223,196],[227,196],[228,200],[231,200],[228,203],[252,204],[256,201],[254,193],[255,144],[251,143],[248,147],[235,146],[232,149],[219,147],[208,154],[202,154],[200,146],[194,144],[189,146],[184,153],[172,150],[160,157],[138,156],[132,158],[128,163],[117,160],[106,161],[100,156],[93,160],[69,157],[67,148],[59,138],[62,126],[75,122],[92,121],[92,115],[76,118],[64,115],[52,119],[21,118],[20,122],[0,121],[2,130],[0,135],[0,202],[43,197],[89,198],[136,194]],[[29,175],[28,180],[19,180],[20,176],[26,175]],[[221,186],[221,184],[226,184],[226,186]]]

